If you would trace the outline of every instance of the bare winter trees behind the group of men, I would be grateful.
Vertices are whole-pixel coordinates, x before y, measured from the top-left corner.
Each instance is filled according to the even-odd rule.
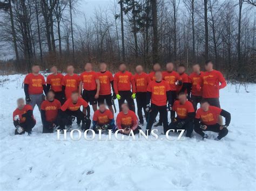
[[[253,0],[117,0],[90,17],[77,11],[79,3],[2,1],[0,42],[15,53],[2,68],[22,72],[33,63],[60,69],[72,63],[82,69],[86,61],[104,60],[114,72],[121,60],[131,70],[137,64],[150,70],[154,62],[190,68],[211,59],[230,79],[256,79]],[[74,15],[83,22],[75,23]]]

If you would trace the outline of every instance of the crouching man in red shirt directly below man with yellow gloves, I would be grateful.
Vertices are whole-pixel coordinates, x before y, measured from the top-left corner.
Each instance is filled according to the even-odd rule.
[[[138,118],[136,114],[129,109],[127,103],[122,104],[122,111],[117,115],[117,128],[122,129],[119,131],[124,135],[129,135],[131,130],[134,135],[139,133],[140,128]]]

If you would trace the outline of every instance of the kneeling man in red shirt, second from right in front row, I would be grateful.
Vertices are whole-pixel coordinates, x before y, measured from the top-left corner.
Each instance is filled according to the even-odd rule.
[[[177,114],[176,121],[169,125],[169,129],[186,130],[186,137],[191,137],[193,132],[194,108],[184,92],[179,93],[178,99],[173,104],[172,110]]]

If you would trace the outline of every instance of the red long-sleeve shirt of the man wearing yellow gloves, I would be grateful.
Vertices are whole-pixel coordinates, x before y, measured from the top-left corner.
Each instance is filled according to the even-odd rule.
[[[136,88],[132,73],[125,71],[114,74],[114,92],[116,94],[118,94],[119,91],[131,91],[131,87],[132,93],[134,94]]]

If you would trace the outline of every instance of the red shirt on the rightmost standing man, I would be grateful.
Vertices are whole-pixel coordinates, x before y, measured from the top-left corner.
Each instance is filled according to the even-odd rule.
[[[205,72],[201,75],[199,83],[197,84],[197,90],[203,89],[204,98],[218,98],[219,90],[225,88],[227,83],[223,75],[217,71]]]

